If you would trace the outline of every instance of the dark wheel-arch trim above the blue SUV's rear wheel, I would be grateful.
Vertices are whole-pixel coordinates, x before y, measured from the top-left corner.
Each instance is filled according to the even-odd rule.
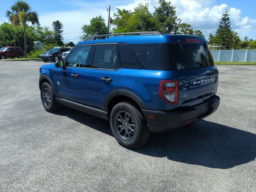
[[[132,93],[128,90],[118,89],[118,90],[114,90],[114,91],[112,91],[108,94],[108,96],[105,99],[104,110],[108,111],[108,104],[109,104],[110,100],[112,98],[114,98],[115,96],[129,97],[132,100],[134,100],[141,109],[146,109],[146,105],[144,104],[144,102],[138,96],[136,96],[136,94],[134,94],[134,93]]]

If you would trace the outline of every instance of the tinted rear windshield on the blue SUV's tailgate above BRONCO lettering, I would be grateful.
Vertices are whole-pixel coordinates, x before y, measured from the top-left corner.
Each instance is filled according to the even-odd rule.
[[[171,44],[173,70],[192,69],[214,65],[212,56],[204,44]]]

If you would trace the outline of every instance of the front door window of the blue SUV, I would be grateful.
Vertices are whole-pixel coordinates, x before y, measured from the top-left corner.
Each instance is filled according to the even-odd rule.
[[[79,46],[67,58],[65,66],[88,67],[89,54],[92,45]]]

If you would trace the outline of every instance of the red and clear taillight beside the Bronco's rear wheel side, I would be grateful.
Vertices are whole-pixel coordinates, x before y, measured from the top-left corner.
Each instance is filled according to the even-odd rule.
[[[161,80],[159,86],[160,97],[170,105],[178,104],[179,84],[177,80]]]

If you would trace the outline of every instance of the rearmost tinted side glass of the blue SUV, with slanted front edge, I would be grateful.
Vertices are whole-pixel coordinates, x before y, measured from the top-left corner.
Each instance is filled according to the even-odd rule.
[[[129,46],[145,69],[161,70],[160,44],[132,44]]]

